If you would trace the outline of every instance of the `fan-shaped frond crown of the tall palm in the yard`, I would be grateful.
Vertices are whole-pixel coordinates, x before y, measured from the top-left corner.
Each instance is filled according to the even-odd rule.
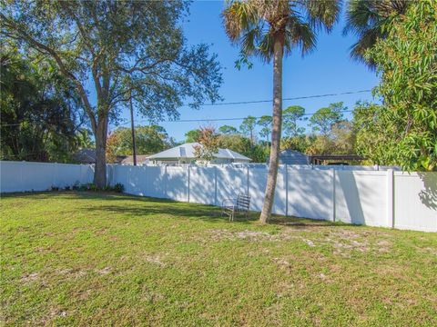
[[[299,7],[299,9],[297,8]],[[248,57],[270,61],[274,40],[283,34],[285,54],[300,48],[302,54],[315,47],[316,30],[330,30],[340,13],[340,1],[231,1],[223,11],[226,33],[232,43],[240,45],[239,60],[251,67]]]

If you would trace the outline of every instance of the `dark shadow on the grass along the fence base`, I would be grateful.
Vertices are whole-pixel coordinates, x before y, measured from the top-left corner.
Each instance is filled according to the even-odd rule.
[[[77,207],[84,212],[102,212],[126,214],[127,216],[150,217],[150,216],[174,216],[189,220],[200,220],[214,223],[225,223],[229,221],[228,216],[221,215],[221,208],[218,206],[198,203],[182,203],[170,199],[152,198],[145,196],[130,195],[125,193],[97,193],[97,192],[39,192],[39,193],[6,193],[2,197],[26,198],[33,197],[34,200],[99,200],[105,204],[86,205]],[[132,201],[134,203],[127,203]],[[116,203],[118,202],[118,203]],[[258,222],[259,213],[250,212],[248,217],[237,215],[233,223],[253,224]],[[310,220],[292,216],[273,215],[269,220],[270,225],[290,226],[296,229],[308,229],[313,227],[332,226],[354,226],[345,223],[332,223],[323,220]]]

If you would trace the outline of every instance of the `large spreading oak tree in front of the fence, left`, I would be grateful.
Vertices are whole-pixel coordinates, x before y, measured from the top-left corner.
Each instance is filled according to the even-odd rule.
[[[54,60],[75,84],[96,138],[99,187],[108,123],[129,96],[151,119],[177,117],[183,101],[198,107],[219,99],[215,55],[208,45],[186,45],[185,1],[2,0],[0,9],[2,36]]]

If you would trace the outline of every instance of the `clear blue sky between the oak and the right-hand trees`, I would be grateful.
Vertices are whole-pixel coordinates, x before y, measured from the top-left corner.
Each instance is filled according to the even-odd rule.
[[[229,44],[219,16],[225,3],[223,1],[195,1],[190,7],[190,15],[183,27],[189,44],[206,43],[211,52],[218,54],[223,66],[224,83],[220,88],[220,95],[225,102],[239,102],[252,100],[267,100],[272,97],[272,66],[253,59],[252,69],[246,67],[237,70],[234,62],[238,58],[239,49]],[[367,90],[378,83],[374,72],[364,64],[351,60],[349,48],[355,42],[353,35],[341,34],[344,26],[343,16],[334,27],[330,35],[320,32],[317,49],[301,57],[298,53],[285,58],[283,65],[283,97],[299,97],[313,94],[339,94],[343,92]],[[283,107],[299,104],[307,113],[314,113],[317,109],[333,102],[343,101],[349,109],[358,100],[371,100],[371,94],[347,94],[324,98],[301,99],[285,101]],[[247,115],[260,116],[271,114],[271,104],[239,104],[203,106],[198,110],[188,107],[180,108],[180,119],[205,119],[205,123],[170,122],[161,123],[169,136],[178,141],[184,140],[184,134],[200,125],[231,124],[239,127],[240,121],[211,122],[218,118],[244,117]],[[122,117],[128,122],[128,112]],[[146,122],[144,117],[136,117],[136,123]],[[115,126],[111,126],[113,130]]]

